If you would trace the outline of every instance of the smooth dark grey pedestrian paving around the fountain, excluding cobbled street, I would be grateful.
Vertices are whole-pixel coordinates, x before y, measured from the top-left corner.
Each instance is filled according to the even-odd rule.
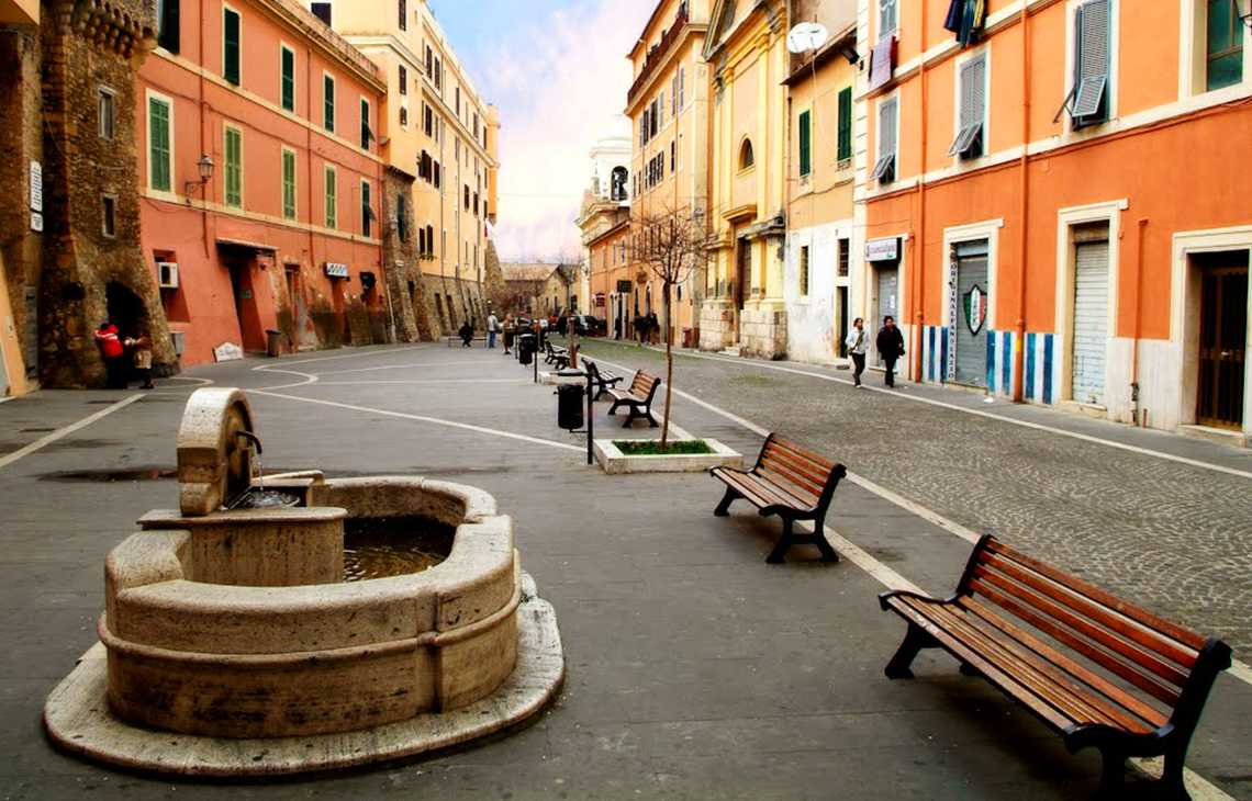
[[[567,648],[561,700],[507,740],[408,766],[249,786],[247,797],[1075,798],[1094,788],[1094,752],[1069,756],[953,660],[925,653],[916,680],[884,678],[904,625],[879,611],[883,584],[850,559],[823,564],[800,546],[786,566],[765,564],[777,521],[746,506],[715,518],[721,486],[707,476],[588,468],[585,443],[556,427],[553,388],[532,384],[528,368],[498,352],[371,348],[193,375],[250,388],[267,471],[417,473],[493,493],[515,518],[522,564],[555,605]],[[39,722],[48,691],[95,641],[104,554],[140,514],[177,506],[173,481],[64,473],[173,468],[189,392],[163,384],[0,468],[5,798],[240,792],[79,762],[53,751]],[[46,426],[61,426],[103,408],[91,400],[121,397],[39,393],[0,404],[0,442],[40,436],[21,429],[45,411],[55,418]],[[760,448],[757,434],[725,417],[674,403],[674,421],[691,433],[749,458]],[[620,423],[598,417],[606,408],[596,404],[596,433],[617,436]],[[851,484],[840,487],[829,522],[930,592],[949,591],[968,554],[949,532]],[[1249,711],[1252,688],[1223,677],[1188,760],[1236,797],[1249,796],[1238,780],[1252,772]]]

